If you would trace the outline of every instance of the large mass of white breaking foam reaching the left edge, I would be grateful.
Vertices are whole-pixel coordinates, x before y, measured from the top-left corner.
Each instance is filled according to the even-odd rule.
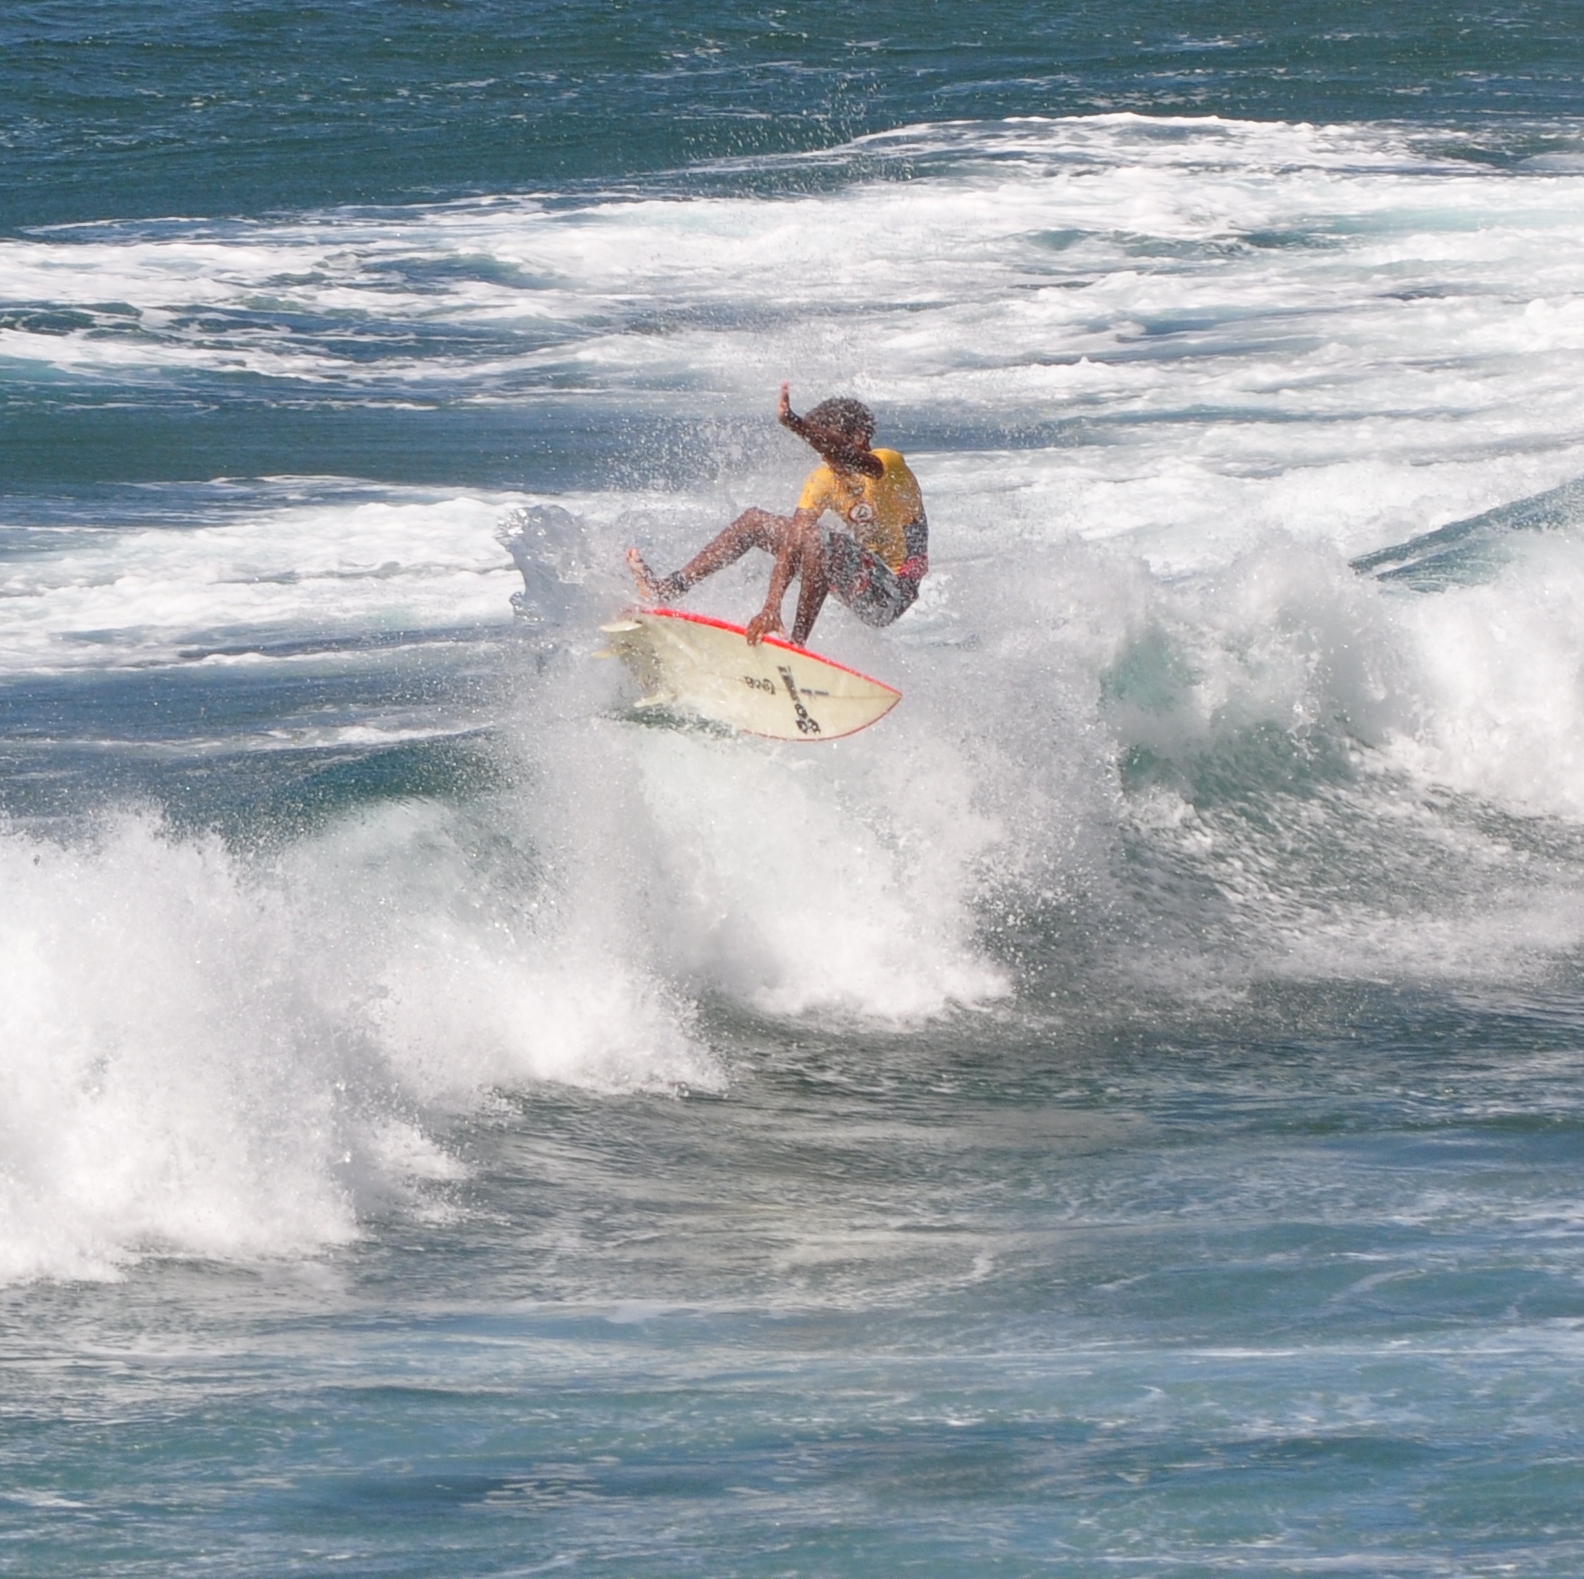
[[[494,1086],[718,1079],[642,965],[491,906],[432,808],[265,869],[144,817],[0,833],[0,1280],[303,1254],[456,1177],[445,1115]]]

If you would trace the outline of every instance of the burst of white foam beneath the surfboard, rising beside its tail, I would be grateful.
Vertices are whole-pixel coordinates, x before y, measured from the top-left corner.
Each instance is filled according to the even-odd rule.
[[[974,912],[996,827],[923,716],[798,752],[604,717],[611,670],[567,654],[508,721],[569,936],[778,1015],[912,1023],[1004,995]]]

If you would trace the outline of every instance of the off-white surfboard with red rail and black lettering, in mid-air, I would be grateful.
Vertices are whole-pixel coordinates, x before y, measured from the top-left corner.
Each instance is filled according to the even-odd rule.
[[[670,706],[771,740],[840,740],[868,729],[901,692],[779,637],[748,645],[741,626],[678,608],[634,608],[600,630],[643,687]]]

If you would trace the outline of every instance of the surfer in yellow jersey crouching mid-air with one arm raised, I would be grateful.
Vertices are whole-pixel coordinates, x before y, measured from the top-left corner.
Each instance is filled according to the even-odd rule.
[[[806,417],[792,410],[790,385],[781,385],[781,424],[819,451],[792,515],[744,510],[681,570],[656,578],[637,548],[627,565],[638,592],[670,603],[749,548],[775,554],[765,607],[748,622],[756,646],[782,634],[781,602],[792,578],[800,581],[792,640],[808,643],[827,592],[835,592],[866,626],[889,626],[919,595],[930,569],[930,526],[923,496],[908,462],[895,450],[871,450],[874,417],[862,401],[821,401]],[[821,524],[825,513],[843,524]]]

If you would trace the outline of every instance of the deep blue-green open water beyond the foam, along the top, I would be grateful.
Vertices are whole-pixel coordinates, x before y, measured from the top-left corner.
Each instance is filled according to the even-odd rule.
[[[1578,111],[1570,0],[1324,13],[1258,0],[906,13],[629,0],[101,5],[0,22],[0,225],[697,181],[923,120],[1220,114],[1478,127]],[[1483,139],[1481,139],[1483,143]]]

